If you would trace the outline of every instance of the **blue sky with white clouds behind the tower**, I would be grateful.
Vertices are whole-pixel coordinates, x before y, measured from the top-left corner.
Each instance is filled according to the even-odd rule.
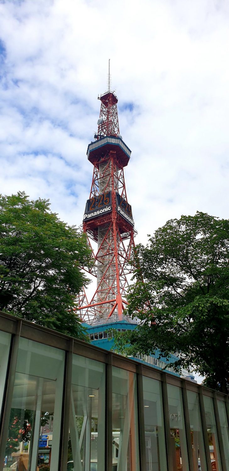
[[[0,3],[0,193],[82,223],[108,59],[137,242],[168,219],[228,218],[229,3]]]

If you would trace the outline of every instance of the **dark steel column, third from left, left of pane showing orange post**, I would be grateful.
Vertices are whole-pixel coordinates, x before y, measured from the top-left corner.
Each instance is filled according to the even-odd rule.
[[[112,353],[108,353],[106,365],[106,471],[112,471]]]

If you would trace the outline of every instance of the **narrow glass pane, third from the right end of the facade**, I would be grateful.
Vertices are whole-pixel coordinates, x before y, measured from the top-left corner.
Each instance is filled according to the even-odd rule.
[[[204,435],[200,414],[199,396],[197,392],[187,391],[188,413],[191,429],[194,471],[207,471],[204,449]]]

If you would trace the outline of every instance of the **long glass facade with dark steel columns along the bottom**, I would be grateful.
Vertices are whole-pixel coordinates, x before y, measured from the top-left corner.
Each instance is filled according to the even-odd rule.
[[[228,396],[0,313],[3,324],[0,469],[229,471]]]

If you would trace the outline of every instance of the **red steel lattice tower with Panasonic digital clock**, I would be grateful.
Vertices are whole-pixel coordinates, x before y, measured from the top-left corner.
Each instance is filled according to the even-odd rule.
[[[131,151],[119,133],[118,99],[110,91],[109,79],[108,91],[98,97],[101,101],[98,134],[87,150],[94,169],[83,231],[91,248],[91,240],[98,244],[97,251],[92,251],[95,267],[90,271],[97,276],[97,288],[90,302],[86,293],[82,293],[78,309],[82,321],[90,324],[123,319],[136,234],[123,172]]]

